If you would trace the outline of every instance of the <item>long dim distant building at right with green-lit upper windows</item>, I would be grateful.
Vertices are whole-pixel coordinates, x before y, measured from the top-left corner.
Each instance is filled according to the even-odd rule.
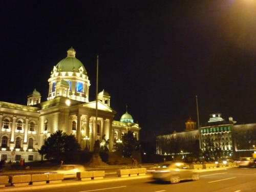
[[[188,149],[183,150],[184,153],[193,153],[195,148],[187,145],[197,140],[201,152],[208,150],[216,153],[219,150],[223,156],[238,157],[250,155],[254,151],[253,145],[256,146],[256,123],[235,125],[236,121],[233,121],[232,117],[225,121],[220,113],[210,114],[205,126],[201,126],[194,131],[190,131],[193,130],[190,128],[191,124],[188,124],[190,122],[193,121],[190,119],[186,121],[185,132],[158,136],[157,154],[171,154],[170,151],[177,153],[173,150],[177,147],[172,146],[177,144],[181,145],[181,148]],[[177,142],[177,140],[180,142]]]

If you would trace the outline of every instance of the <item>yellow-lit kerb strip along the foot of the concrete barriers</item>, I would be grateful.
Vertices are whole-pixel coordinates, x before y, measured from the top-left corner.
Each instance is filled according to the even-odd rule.
[[[195,170],[196,172],[212,172],[215,170],[223,170],[232,167],[222,167],[222,168],[209,168],[209,169],[201,169]],[[137,177],[109,177],[104,178],[102,180],[89,180],[89,181],[78,181],[78,180],[63,180],[62,183],[58,184],[44,184],[44,185],[27,185],[27,186],[20,186],[20,187],[13,187],[7,186],[5,188],[0,188],[0,192],[4,191],[28,191],[33,189],[47,189],[47,188],[54,188],[54,187],[65,187],[65,186],[73,186],[73,185],[84,185],[84,184],[96,184],[96,183],[106,183],[106,182],[118,182],[124,180],[134,180],[134,179],[145,179],[151,178],[151,174],[147,174],[145,176],[137,176]]]

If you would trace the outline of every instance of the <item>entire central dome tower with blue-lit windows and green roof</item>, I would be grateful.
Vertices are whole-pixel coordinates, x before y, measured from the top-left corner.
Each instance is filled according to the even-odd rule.
[[[89,102],[91,84],[86,68],[76,58],[76,51],[72,47],[67,53],[67,57],[53,67],[51,77],[48,79],[49,94],[47,100],[65,96],[73,100]]]

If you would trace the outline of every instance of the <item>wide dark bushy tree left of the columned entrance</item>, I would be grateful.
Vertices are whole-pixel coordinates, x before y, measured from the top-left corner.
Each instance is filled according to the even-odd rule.
[[[68,153],[76,152],[80,149],[74,135],[67,135],[65,132],[57,131],[45,140],[44,145],[38,150],[39,154],[46,155],[47,159],[60,160]]]

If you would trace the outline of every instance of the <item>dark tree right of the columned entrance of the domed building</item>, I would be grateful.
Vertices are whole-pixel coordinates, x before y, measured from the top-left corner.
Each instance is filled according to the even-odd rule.
[[[115,143],[115,150],[121,152],[124,157],[131,157],[133,151],[137,151],[139,142],[134,137],[132,131],[128,131],[122,136],[122,143]]]

